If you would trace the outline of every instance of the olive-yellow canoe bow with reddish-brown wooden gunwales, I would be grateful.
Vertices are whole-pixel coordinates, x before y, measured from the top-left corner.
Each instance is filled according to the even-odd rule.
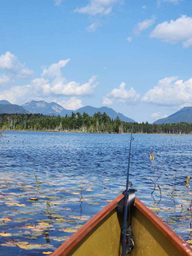
[[[123,197],[117,196],[52,256],[121,256],[123,216],[116,207]],[[137,198],[132,211],[132,230],[135,246],[130,256],[192,256],[192,248]]]

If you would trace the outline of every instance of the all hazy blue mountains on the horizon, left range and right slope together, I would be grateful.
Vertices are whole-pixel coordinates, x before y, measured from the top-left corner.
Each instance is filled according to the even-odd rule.
[[[60,106],[59,104],[55,102],[46,102],[44,100],[31,100],[22,106],[12,104],[7,100],[0,100],[0,114],[13,114],[13,113],[18,113],[18,114],[30,114],[30,113],[40,113],[43,115],[49,115],[49,116],[71,116],[72,112],[74,113],[81,113],[83,114],[84,112],[89,114],[90,116],[93,116],[95,113],[99,112],[103,114],[104,112],[110,117],[115,119],[116,116],[119,116],[119,118],[124,121],[124,122],[130,122],[133,123],[134,120],[124,116],[121,113],[117,113],[115,110],[112,108],[108,107],[101,107],[101,108],[94,108],[91,106],[85,106],[82,108],[78,108],[76,110],[68,110]],[[154,122],[154,124],[175,124],[175,123],[192,123],[192,107],[184,107],[181,108],[179,111],[176,113],[162,118],[158,119]]]

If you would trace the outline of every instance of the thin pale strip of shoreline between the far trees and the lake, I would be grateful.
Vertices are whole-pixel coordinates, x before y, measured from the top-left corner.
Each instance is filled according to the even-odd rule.
[[[131,133],[109,133],[109,132],[77,132],[77,131],[64,131],[64,132],[59,132],[59,131],[36,131],[36,130],[0,130],[0,132],[55,132],[55,133],[88,133],[88,134],[131,134]],[[174,133],[144,133],[144,132],[133,132],[133,134],[145,134],[145,135],[174,135],[174,136],[192,136],[192,134],[174,134]],[[0,136],[1,137],[1,136]]]

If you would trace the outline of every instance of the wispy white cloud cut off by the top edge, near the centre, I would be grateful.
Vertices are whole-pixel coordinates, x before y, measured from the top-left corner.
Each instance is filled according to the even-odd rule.
[[[108,15],[112,11],[112,6],[117,2],[119,2],[119,0],[90,0],[89,4],[81,8],[76,8],[75,12],[90,15]]]

